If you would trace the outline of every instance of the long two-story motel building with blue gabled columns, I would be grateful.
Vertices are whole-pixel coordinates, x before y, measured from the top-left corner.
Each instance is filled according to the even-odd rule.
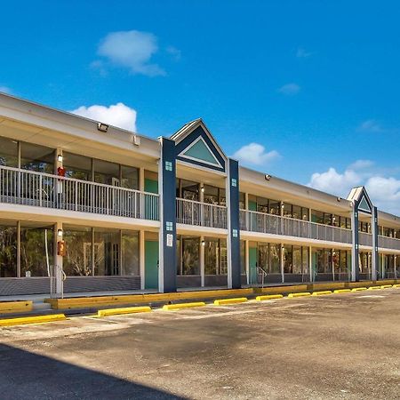
[[[239,166],[201,119],[153,140],[0,94],[0,295],[49,265],[66,292],[396,278],[400,218]]]

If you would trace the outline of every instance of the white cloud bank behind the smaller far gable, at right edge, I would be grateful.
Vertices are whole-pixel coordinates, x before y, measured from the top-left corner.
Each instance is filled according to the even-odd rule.
[[[400,215],[400,180],[371,172],[372,165],[372,161],[357,160],[343,173],[331,167],[326,172],[313,173],[308,186],[347,197],[351,188],[363,185],[381,211]]]

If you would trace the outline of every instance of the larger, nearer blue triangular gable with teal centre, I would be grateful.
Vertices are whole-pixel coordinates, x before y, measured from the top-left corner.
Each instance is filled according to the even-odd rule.
[[[201,119],[185,124],[171,137],[177,160],[225,172],[227,157]]]

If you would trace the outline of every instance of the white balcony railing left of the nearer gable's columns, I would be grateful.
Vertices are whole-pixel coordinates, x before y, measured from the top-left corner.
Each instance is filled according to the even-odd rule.
[[[158,220],[158,195],[0,166],[0,202]]]

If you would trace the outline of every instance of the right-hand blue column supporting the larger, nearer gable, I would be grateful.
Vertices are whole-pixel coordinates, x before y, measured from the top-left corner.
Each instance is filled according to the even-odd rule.
[[[228,159],[227,205],[228,205],[228,287],[241,287],[240,270],[240,221],[239,221],[239,164]]]

